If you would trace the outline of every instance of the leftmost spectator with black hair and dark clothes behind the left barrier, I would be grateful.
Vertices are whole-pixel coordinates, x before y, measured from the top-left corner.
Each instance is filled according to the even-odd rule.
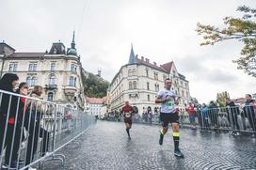
[[[0,80],[0,89],[15,93],[14,89],[19,84],[16,74],[6,73]],[[20,147],[21,124],[17,121],[18,97],[1,92],[0,105],[0,154],[6,147],[5,163],[3,168],[18,168],[18,150]],[[15,127],[16,126],[16,127]],[[7,127],[7,130],[6,130]],[[15,132],[15,133],[14,133]],[[13,138],[14,136],[14,138]],[[11,151],[12,150],[12,151]],[[0,163],[2,162],[2,158]]]

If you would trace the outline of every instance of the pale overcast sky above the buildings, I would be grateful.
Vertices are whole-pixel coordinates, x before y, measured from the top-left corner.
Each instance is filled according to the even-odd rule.
[[[197,23],[223,27],[223,18],[239,16],[236,8],[256,8],[255,0],[0,0],[0,41],[16,52],[45,52],[60,40],[67,47],[75,31],[83,68],[111,82],[135,54],[158,65],[174,61],[200,102],[255,93],[256,78],[237,70],[241,42],[200,46]]]

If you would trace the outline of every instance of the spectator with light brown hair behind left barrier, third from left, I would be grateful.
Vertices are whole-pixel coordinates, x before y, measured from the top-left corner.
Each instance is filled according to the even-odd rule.
[[[27,112],[25,113],[26,130],[28,131],[28,142],[26,148],[25,165],[33,161],[34,155],[38,148],[39,137],[42,137],[42,147],[40,156],[44,156],[48,151],[49,132],[40,127],[40,119],[44,112],[40,100],[42,94],[42,86],[35,85],[30,96],[38,100],[29,100]]]

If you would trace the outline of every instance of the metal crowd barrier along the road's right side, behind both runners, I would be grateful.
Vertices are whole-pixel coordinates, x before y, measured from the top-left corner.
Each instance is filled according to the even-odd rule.
[[[186,112],[180,113],[180,125],[190,126]],[[110,115],[104,117],[109,121],[123,121],[122,117]],[[195,112],[196,125],[201,131],[229,131],[231,133],[248,132],[256,134],[256,106],[234,106],[200,108]],[[160,124],[159,114],[133,116],[134,123]]]

